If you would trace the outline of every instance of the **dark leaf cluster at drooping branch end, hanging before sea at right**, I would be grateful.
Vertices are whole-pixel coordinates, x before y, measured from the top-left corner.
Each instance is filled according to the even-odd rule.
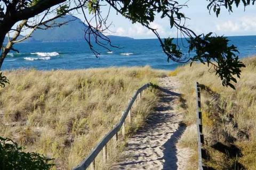
[[[240,78],[241,68],[245,65],[238,60],[237,48],[228,45],[228,39],[223,36],[211,37],[212,32],[207,35],[199,35],[189,40],[189,53],[195,51],[196,55],[191,61],[199,61],[203,64],[212,64],[216,74],[221,78],[223,86],[235,89],[231,81],[237,82],[234,75]],[[192,62],[192,63],[193,63]],[[191,64],[192,64],[191,63]]]

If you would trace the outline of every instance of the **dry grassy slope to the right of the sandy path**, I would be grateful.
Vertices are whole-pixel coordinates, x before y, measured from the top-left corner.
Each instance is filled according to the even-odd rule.
[[[256,169],[256,57],[243,60],[246,68],[238,79],[236,90],[221,86],[221,81],[203,64],[179,67],[182,107],[188,130],[180,144],[196,153],[195,81],[202,87],[203,130],[208,160],[214,169]],[[188,169],[196,169],[197,156],[191,158]]]

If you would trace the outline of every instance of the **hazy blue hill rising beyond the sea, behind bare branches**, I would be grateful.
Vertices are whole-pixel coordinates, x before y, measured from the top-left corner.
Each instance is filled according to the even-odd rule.
[[[53,27],[47,30],[37,29],[33,32],[31,38],[23,41],[24,43],[34,42],[65,42],[65,41],[85,41],[84,35],[87,25],[72,15],[65,15],[54,20],[55,23],[63,23],[69,21],[61,27]],[[129,40],[130,37],[107,36],[110,40]],[[7,42],[5,38],[4,42]]]

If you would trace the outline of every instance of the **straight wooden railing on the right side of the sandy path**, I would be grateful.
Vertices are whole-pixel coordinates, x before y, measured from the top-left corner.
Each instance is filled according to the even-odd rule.
[[[204,134],[202,126],[202,112],[201,112],[201,93],[199,83],[196,82],[196,125],[197,125],[197,145],[198,145],[198,169],[203,170],[204,166],[202,158],[204,157]]]

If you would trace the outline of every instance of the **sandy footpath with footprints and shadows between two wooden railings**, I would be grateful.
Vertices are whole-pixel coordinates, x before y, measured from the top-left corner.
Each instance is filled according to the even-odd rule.
[[[145,128],[128,140],[124,159],[111,169],[185,169],[189,150],[177,146],[185,131],[177,111],[179,83],[175,77],[160,79],[161,99]]]

